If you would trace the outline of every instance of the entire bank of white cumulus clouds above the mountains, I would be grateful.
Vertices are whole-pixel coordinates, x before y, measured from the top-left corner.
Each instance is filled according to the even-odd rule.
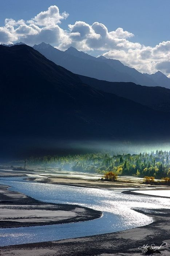
[[[108,31],[99,22],[90,25],[76,21],[68,25],[68,30],[63,30],[59,25],[68,15],[52,5],[27,21],[6,18],[4,26],[0,27],[0,44],[22,41],[32,46],[46,42],[60,50],[70,46],[86,52],[100,50],[103,56],[118,59],[138,71],[151,74],[161,70],[170,77],[170,41],[160,42],[155,47],[145,46],[130,41],[133,33],[121,27]]]

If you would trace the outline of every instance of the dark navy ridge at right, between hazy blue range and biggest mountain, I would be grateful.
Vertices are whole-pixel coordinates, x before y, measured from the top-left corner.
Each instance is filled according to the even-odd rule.
[[[155,110],[170,112],[170,89],[159,86],[141,86],[128,82],[107,82],[81,75],[79,75],[79,78],[83,83],[92,86],[96,90],[131,99]]]

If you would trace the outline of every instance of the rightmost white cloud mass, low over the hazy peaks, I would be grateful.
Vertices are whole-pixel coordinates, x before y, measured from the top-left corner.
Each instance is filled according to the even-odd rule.
[[[162,42],[155,47],[141,45],[134,49],[113,49],[103,53],[103,56],[119,59],[123,64],[143,73],[152,74],[160,70],[170,76],[170,41]]]

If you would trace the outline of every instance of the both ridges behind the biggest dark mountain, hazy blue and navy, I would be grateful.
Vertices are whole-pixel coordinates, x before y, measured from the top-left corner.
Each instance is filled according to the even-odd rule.
[[[132,82],[108,82],[106,81],[108,78],[106,78],[106,80],[91,78],[94,74],[96,77],[101,78],[106,77],[106,74],[110,73],[115,80],[119,80],[118,76],[120,76],[120,80],[142,80],[140,84],[147,83],[147,76],[149,77],[149,80],[151,80],[152,77],[152,81],[155,80],[155,83],[161,83],[161,79],[165,82],[169,82],[170,79],[160,71],[153,75],[141,74],[134,68],[124,66],[119,60],[106,59],[103,56],[95,58],[87,53],[80,52],[73,47],[68,48],[65,52],[45,43],[35,45],[33,48],[37,49],[54,63],[57,63],[76,74],[88,74],[88,76],[79,75],[79,78],[83,83],[92,86],[96,90],[102,90],[107,93],[113,93],[120,97],[131,99],[155,110],[170,112],[170,90],[164,87],[141,86]],[[122,70],[124,73],[120,73]],[[156,79],[156,77],[158,79]],[[152,83],[154,84],[154,82]]]

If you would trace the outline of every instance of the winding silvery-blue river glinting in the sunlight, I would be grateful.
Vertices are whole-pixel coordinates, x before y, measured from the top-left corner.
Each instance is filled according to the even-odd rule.
[[[25,178],[25,177],[24,177]],[[121,190],[81,188],[26,181],[23,177],[0,177],[0,184],[43,202],[79,204],[103,212],[92,221],[59,225],[0,229],[0,246],[84,237],[131,229],[153,219],[133,208],[169,208],[170,200],[144,195],[127,195]]]

